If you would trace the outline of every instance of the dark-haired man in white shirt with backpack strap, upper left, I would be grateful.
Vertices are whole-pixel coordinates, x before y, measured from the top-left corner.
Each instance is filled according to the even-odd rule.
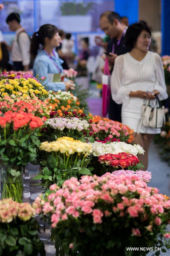
[[[28,71],[30,64],[30,39],[25,29],[20,25],[20,21],[18,13],[11,13],[6,19],[10,30],[16,32],[11,47],[11,58],[16,71]]]

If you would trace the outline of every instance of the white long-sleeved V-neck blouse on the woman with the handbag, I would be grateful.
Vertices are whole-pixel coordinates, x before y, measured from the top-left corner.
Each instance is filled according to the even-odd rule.
[[[138,90],[158,90],[159,99],[168,97],[166,92],[163,64],[161,57],[148,51],[146,56],[137,61],[129,53],[115,59],[111,76],[112,99],[125,107],[129,101],[129,93]]]

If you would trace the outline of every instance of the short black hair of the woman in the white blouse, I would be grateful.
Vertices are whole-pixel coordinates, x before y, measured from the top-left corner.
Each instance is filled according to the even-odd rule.
[[[129,49],[133,49],[134,45],[136,44],[137,38],[141,34],[142,30],[146,30],[151,36],[150,29],[143,22],[137,22],[129,26],[125,35],[125,46]]]

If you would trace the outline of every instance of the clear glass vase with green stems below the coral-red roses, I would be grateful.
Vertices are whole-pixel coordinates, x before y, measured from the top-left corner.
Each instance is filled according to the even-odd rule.
[[[12,198],[22,203],[24,166],[2,165],[0,169],[1,199]]]

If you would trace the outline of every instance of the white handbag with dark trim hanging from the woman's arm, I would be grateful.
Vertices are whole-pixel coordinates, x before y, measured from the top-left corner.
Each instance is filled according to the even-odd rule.
[[[150,105],[150,100],[142,106],[142,117],[137,133],[140,133],[141,126],[148,128],[162,128],[165,124],[164,106],[161,106],[158,96],[155,96],[155,106]]]

